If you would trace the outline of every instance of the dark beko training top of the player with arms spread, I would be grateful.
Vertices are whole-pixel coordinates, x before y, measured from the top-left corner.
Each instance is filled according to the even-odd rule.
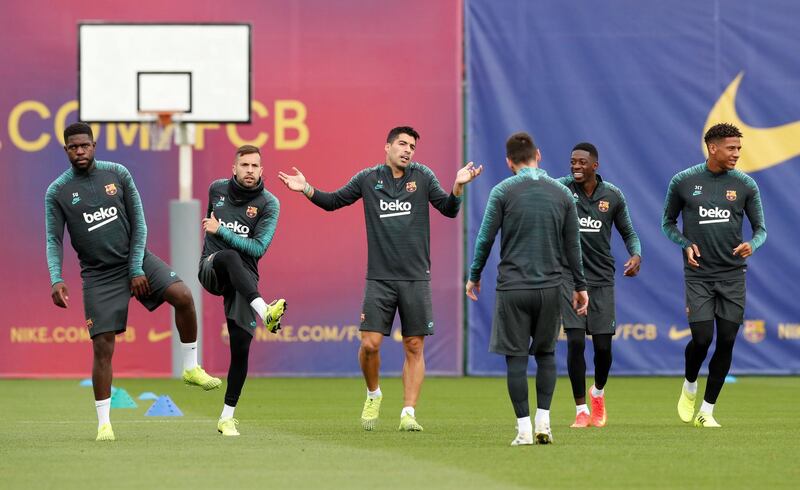
[[[357,173],[335,192],[314,189],[311,202],[326,211],[364,200],[367,225],[367,279],[429,281],[431,227],[428,203],[455,218],[461,198],[448,194],[431,169],[411,163],[395,179],[386,164]]]

